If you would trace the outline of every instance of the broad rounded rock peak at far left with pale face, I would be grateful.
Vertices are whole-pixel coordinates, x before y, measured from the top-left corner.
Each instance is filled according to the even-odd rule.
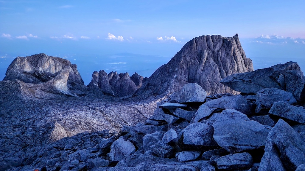
[[[18,79],[25,83],[42,83],[56,77],[61,70],[68,69],[68,81],[84,84],[76,64],[59,57],[39,53],[32,56],[17,57],[7,68],[3,80]]]

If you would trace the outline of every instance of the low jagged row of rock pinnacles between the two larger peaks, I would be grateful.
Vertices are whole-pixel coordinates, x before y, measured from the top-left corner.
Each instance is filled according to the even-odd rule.
[[[101,90],[107,95],[124,97],[141,87],[143,79],[138,73],[132,74],[130,77],[128,73],[110,72],[107,75],[104,70],[100,70],[99,72],[93,72],[88,87]]]

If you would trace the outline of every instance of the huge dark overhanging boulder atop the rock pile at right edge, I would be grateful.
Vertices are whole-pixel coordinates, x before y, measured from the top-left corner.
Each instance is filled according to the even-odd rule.
[[[233,74],[220,82],[233,90],[246,94],[256,94],[264,88],[273,87],[291,92],[298,101],[301,101],[304,96],[305,79],[296,62]]]

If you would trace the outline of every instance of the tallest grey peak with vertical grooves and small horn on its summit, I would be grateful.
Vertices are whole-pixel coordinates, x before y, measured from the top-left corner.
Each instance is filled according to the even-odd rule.
[[[170,95],[187,83],[199,84],[208,94],[236,93],[219,81],[249,71],[253,71],[253,64],[246,57],[238,34],[233,37],[199,36],[158,68],[134,95]]]

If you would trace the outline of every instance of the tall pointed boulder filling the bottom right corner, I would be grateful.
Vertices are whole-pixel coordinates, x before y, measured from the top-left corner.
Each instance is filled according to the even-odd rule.
[[[258,171],[295,170],[305,163],[305,142],[298,132],[279,119],[270,131]]]

